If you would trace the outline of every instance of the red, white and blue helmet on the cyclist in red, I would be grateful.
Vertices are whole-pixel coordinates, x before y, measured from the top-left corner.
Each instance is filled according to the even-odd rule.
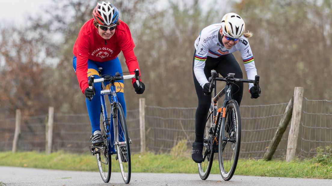
[[[96,8],[92,12],[92,17],[101,25],[111,25],[117,23],[119,19],[119,11],[110,2],[97,3]]]

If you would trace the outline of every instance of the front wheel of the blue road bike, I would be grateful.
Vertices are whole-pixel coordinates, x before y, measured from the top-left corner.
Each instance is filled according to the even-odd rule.
[[[115,142],[117,149],[117,157],[120,165],[120,171],[124,183],[130,182],[131,176],[131,159],[130,159],[130,146],[127,124],[124,117],[122,106],[117,103],[114,106],[114,112],[117,116],[113,118]],[[126,149],[126,153],[125,153]]]

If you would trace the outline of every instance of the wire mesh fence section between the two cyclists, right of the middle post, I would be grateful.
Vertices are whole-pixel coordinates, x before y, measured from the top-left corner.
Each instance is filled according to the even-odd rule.
[[[146,147],[156,153],[169,152],[182,139],[195,140],[195,108],[146,106]]]

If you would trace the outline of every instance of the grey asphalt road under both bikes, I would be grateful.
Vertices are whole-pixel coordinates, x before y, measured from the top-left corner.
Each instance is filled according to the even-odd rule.
[[[332,185],[332,179],[278,178],[234,175],[224,181],[219,174],[201,180],[198,174],[135,173],[129,184],[124,184],[121,174],[112,173],[109,183],[104,183],[99,172],[49,170],[25,167],[0,166],[0,183],[3,186],[83,186],[83,185]],[[1,184],[0,184],[1,185]]]

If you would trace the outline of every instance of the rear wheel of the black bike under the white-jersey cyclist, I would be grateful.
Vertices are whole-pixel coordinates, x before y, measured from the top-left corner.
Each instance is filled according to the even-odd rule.
[[[202,180],[206,180],[207,177],[210,175],[212,162],[213,162],[214,153],[211,152],[212,138],[211,135],[209,135],[208,133],[210,127],[212,126],[212,122],[213,122],[213,105],[211,104],[204,130],[203,158],[205,157],[205,159],[204,162],[198,163],[198,174],[200,175]]]

